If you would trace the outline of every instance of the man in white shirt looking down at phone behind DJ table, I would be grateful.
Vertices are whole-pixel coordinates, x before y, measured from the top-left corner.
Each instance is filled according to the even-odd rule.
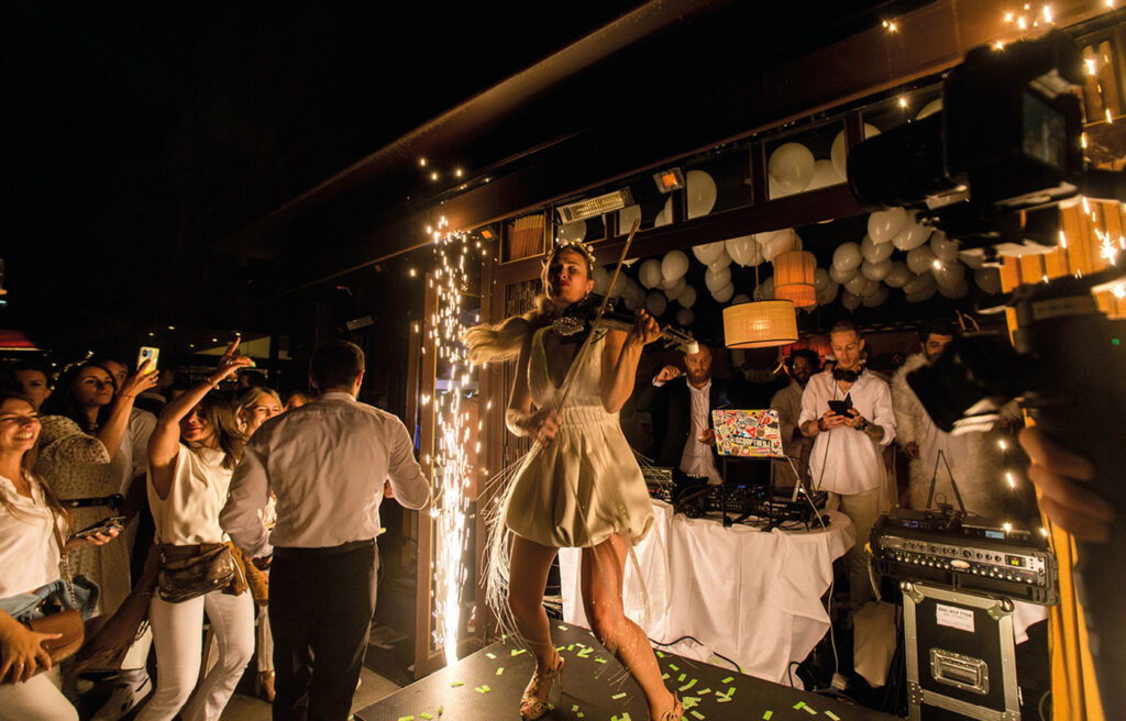
[[[814,439],[810,453],[813,487],[829,492],[826,507],[840,510],[856,528],[849,551],[849,610],[872,597],[864,547],[881,514],[885,480],[882,451],[895,438],[895,414],[887,384],[860,364],[864,339],[851,323],[838,323],[829,334],[837,358],[832,370],[810,379],[802,394],[802,433]],[[848,405],[835,413],[830,407]]]

